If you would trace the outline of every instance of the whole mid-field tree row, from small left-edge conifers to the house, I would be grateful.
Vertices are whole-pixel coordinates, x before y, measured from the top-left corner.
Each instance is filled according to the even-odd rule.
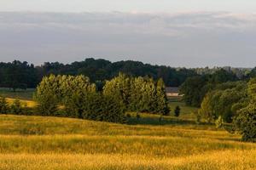
[[[67,116],[104,122],[125,122],[126,111],[167,115],[169,107],[162,79],[131,77],[119,74],[106,82],[102,91],[89,77],[50,75],[38,84],[33,111],[21,106],[19,100],[9,108],[0,99],[1,113],[39,116]],[[18,108],[14,111],[12,108]]]

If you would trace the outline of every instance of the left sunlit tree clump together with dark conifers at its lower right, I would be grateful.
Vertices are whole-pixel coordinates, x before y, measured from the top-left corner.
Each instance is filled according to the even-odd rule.
[[[44,77],[35,99],[43,116],[69,116],[105,122],[124,122],[123,108],[115,96],[96,94],[88,77]],[[60,109],[61,108],[61,109]]]

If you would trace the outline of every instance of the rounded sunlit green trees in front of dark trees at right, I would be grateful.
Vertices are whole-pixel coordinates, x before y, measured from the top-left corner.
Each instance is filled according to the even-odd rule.
[[[227,82],[218,85],[208,93],[201,103],[198,114],[207,122],[213,122],[219,116],[224,122],[231,122],[236,111],[247,104],[246,82]]]

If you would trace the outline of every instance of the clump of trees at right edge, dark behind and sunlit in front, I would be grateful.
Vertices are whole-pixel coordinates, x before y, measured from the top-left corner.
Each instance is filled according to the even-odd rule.
[[[179,90],[186,105],[200,108],[195,112],[197,122],[215,122],[217,127],[232,123],[229,132],[239,132],[243,140],[256,141],[255,69],[243,78],[224,69],[212,75],[189,77]]]

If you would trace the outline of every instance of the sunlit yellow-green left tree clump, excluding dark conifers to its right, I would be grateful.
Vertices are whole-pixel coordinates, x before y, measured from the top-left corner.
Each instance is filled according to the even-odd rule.
[[[62,116],[81,118],[83,98],[87,93],[96,92],[94,84],[90,84],[84,76],[54,76],[44,77],[38,85],[35,99],[38,101],[38,113],[44,116],[55,115],[58,105],[64,105],[66,113]]]

